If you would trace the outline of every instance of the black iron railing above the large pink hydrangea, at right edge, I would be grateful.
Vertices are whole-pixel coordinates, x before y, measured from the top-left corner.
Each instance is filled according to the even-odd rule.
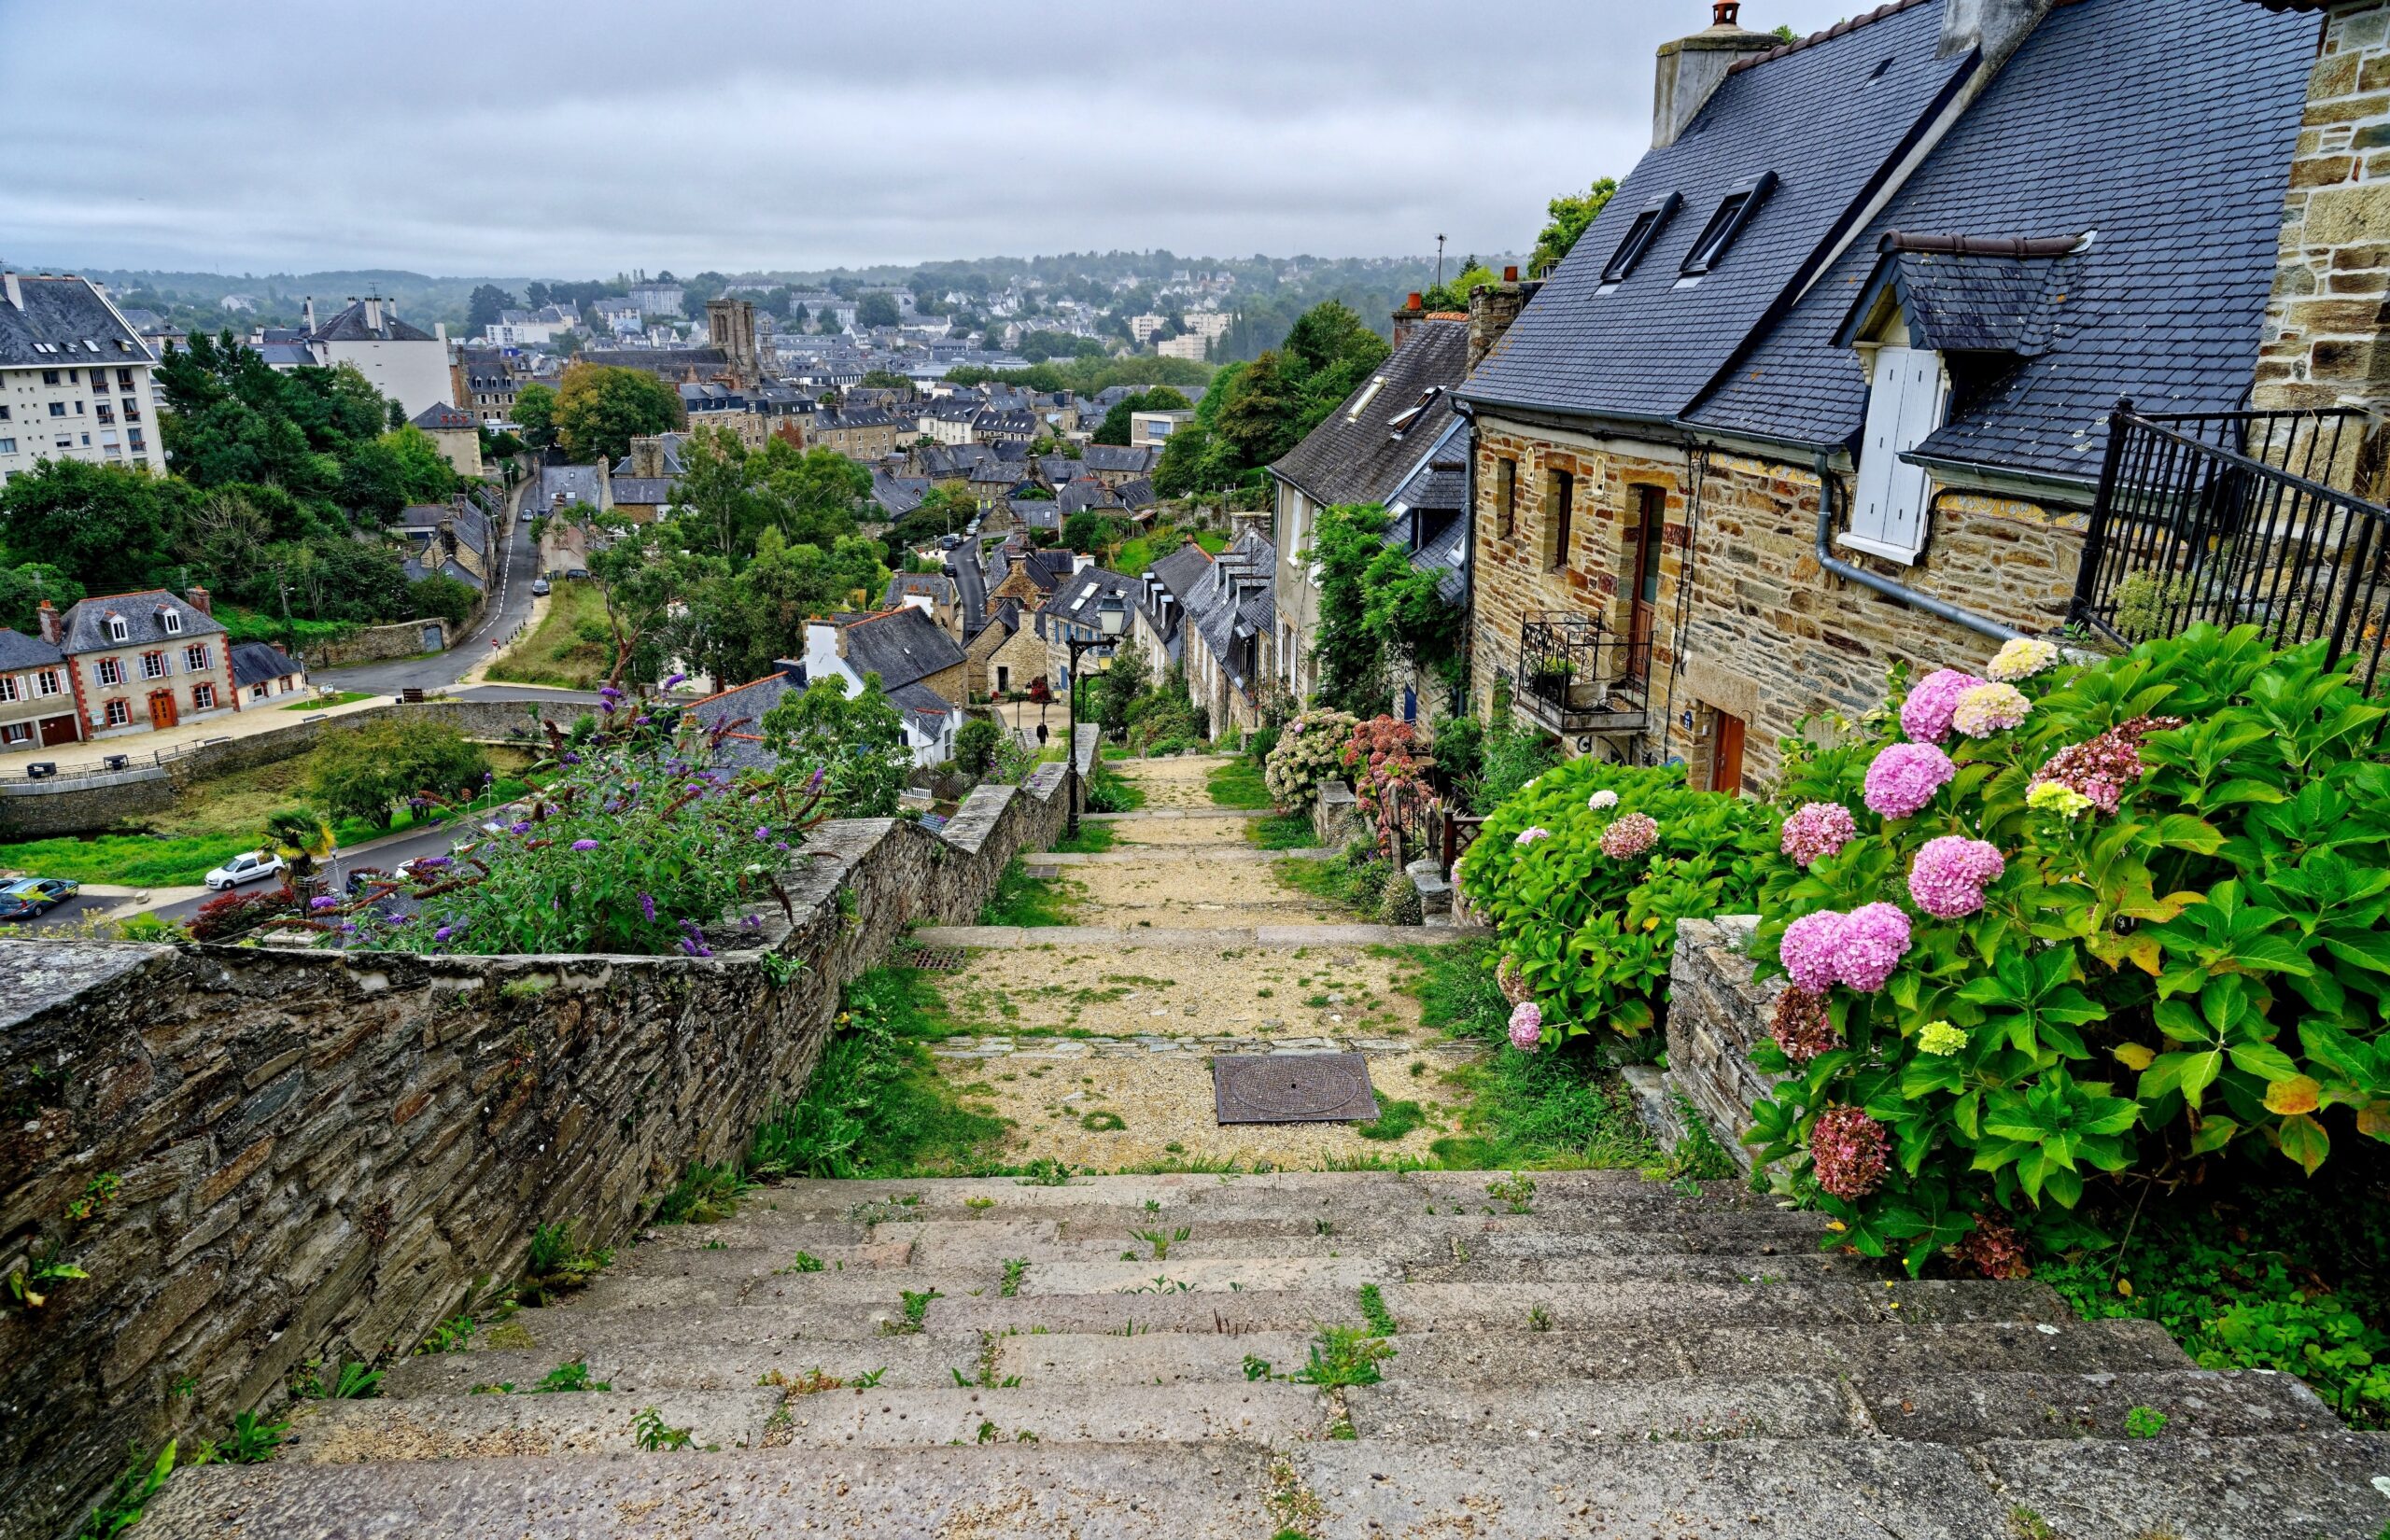
[[[2390,604],[2390,509],[2357,475],[2354,411],[2108,418],[2108,461],[2070,618],[2110,642],[2199,621],[2278,647],[2325,637],[2371,690]]]

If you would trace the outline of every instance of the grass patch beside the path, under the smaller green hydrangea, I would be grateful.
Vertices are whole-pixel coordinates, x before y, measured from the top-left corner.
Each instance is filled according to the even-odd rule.
[[[1300,864],[1300,862],[1288,862]],[[1544,1053],[1510,1048],[1510,1003],[1494,984],[1496,950],[1484,941],[1389,948],[1408,962],[1396,988],[1420,1000],[1420,1024],[1491,1048],[1446,1079],[1470,1094],[1460,1134],[1429,1148],[1453,1170],[1642,1168],[1659,1160],[1618,1074],[1592,1039]]]

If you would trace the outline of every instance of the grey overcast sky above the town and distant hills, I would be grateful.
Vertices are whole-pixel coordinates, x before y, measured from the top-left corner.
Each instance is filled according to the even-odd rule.
[[[1867,0],[1749,0],[1831,26]],[[0,0],[0,255],[598,277],[1525,251],[1709,0]]]

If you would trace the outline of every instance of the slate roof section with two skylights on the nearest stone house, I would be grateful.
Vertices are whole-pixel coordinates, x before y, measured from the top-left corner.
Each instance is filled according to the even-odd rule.
[[[2144,26],[2153,41],[2173,33],[2156,17]],[[1637,162],[1460,394],[1570,415],[1678,418],[1965,81],[1972,55],[1936,60],[1941,5],[1912,5],[1726,76],[1673,146]],[[2058,131],[2041,124],[2043,138]],[[2153,155],[2175,148],[2139,129],[2101,129],[2110,148],[2129,153],[2115,143],[2120,134]],[[1680,287],[1680,267],[1726,196],[1769,172],[1778,186],[1723,260]],[[2039,177],[2027,181],[2039,186]],[[1683,205],[1642,263],[1597,294],[1635,217],[1668,196]]]

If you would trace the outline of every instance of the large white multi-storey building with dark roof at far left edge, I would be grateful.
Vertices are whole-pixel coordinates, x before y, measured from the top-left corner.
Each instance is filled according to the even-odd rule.
[[[148,466],[163,475],[151,411],[155,363],[98,284],[0,275],[0,482],[38,461]],[[445,387],[445,365],[440,380]]]

